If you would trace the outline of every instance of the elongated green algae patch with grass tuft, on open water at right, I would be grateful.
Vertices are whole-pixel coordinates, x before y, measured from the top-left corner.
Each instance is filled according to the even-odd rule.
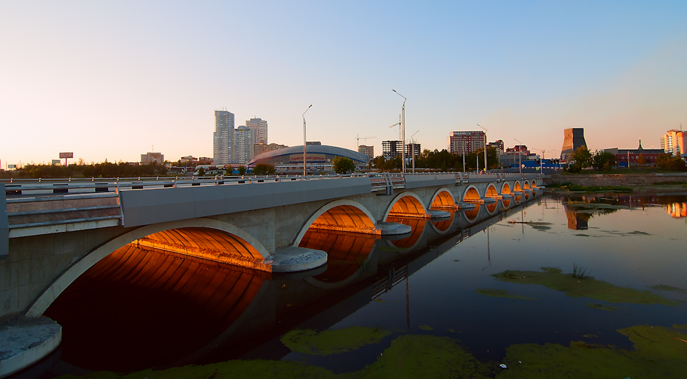
[[[560,268],[542,267],[542,271],[504,271],[491,275],[502,282],[519,284],[539,284],[565,292],[570,297],[589,297],[609,303],[664,304],[675,306],[677,302],[652,293],[632,288],[613,286],[594,278],[575,279],[570,274],[563,274]]]

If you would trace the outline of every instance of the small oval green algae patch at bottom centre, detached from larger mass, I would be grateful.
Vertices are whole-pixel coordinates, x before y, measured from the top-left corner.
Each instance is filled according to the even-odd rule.
[[[390,330],[365,326],[349,326],[319,333],[315,330],[297,329],[284,334],[281,341],[292,352],[328,356],[379,343],[382,338],[390,334],[392,334]]]

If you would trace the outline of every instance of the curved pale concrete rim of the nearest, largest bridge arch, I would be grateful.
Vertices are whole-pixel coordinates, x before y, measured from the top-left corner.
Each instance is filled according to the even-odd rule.
[[[249,233],[236,227],[228,222],[214,220],[212,218],[192,218],[187,220],[177,220],[170,222],[162,222],[159,224],[146,225],[128,231],[127,233],[117,236],[108,242],[93,249],[81,257],[74,264],[69,266],[65,272],[56,277],[54,281],[47,287],[41,295],[28,308],[25,315],[27,317],[38,317],[52,304],[55,299],[73,283],[80,275],[85,273],[94,264],[102,260],[107,255],[117,251],[117,249],[126,246],[131,242],[141,240],[148,236],[153,236],[156,233],[183,230],[183,229],[206,229],[207,231],[219,231],[226,236],[233,236],[239,244],[243,244],[246,251],[241,253],[249,253],[253,260],[268,260],[271,255],[267,249],[256,238]],[[228,240],[227,240],[228,241]],[[245,244],[244,244],[245,242]],[[243,255],[246,257],[246,255]],[[250,259],[250,258],[248,258]]]

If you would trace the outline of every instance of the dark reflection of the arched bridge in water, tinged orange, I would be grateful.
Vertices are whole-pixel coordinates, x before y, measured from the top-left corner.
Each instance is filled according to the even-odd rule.
[[[279,342],[285,332],[310,328],[308,323],[322,328],[393,286],[407,285],[404,279],[442,254],[428,253],[428,244],[457,235],[460,242],[498,222],[494,212],[517,202],[475,204],[443,220],[389,216],[389,222],[412,227],[396,240],[313,228],[300,246],[326,251],[327,266],[295,276],[128,244],[79,277],[45,314],[63,325],[62,360],[85,369],[210,363],[252,349],[264,353],[254,350],[253,357],[279,359],[289,353]],[[340,317],[332,317],[337,304],[345,305],[337,308]]]

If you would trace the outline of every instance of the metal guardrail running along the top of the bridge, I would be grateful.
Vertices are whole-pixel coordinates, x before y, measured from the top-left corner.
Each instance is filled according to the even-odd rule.
[[[497,181],[507,179],[526,179],[528,176],[539,174],[468,174],[464,172],[451,173],[418,173],[401,174],[390,172],[374,172],[366,174],[346,175],[307,175],[307,176],[204,176],[190,179],[181,177],[153,177],[153,178],[87,178],[87,179],[9,179],[0,180],[5,185],[6,205],[8,209],[9,229],[29,227],[45,227],[63,225],[76,222],[93,222],[100,220],[122,219],[122,211],[112,214],[111,210],[120,208],[120,190],[142,190],[144,188],[160,187],[192,187],[202,185],[241,185],[245,183],[274,183],[282,181],[311,181],[326,179],[342,179],[352,177],[370,178],[370,191],[390,195],[394,189],[405,188],[406,176],[424,176],[433,174],[451,174],[455,183],[463,185],[471,182]],[[486,179],[486,180],[485,180]],[[534,179],[534,178],[530,178]],[[70,192],[70,190],[72,192]],[[92,190],[92,191],[91,191]],[[116,198],[116,200],[113,200]],[[89,203],[74,206],[74,203]],[[42,206],[43,209],[32,209],[34,203],[62,202],[55,207]],[[91,204],[93,203],[93,204]],[[26,209],[23,209],[26,208]],[[83,217],[85,214],[93,216]],[[56,215],[56,220],[44,220],[45,216]],[[70,218],[70,216],[72,216]],[[23,222],[23,220],[30,220]],[[121,221],[120,221],[121,222]]]

